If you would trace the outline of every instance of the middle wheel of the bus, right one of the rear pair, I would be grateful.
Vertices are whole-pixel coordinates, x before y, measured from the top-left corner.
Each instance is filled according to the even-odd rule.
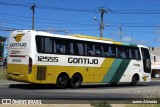
[[[82,83],[82,76],[80,74],[74,74],[70,80],[70,86],[72,88],[79,88]]]

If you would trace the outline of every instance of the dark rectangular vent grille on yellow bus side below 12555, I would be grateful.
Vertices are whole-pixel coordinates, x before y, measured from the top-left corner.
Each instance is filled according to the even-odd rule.
[[[37,80],[46,79],[46,67],[37,67]]]

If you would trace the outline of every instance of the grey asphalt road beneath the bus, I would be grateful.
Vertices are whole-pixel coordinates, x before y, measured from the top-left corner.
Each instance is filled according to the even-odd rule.
[[[136,86],[118,84],[83,85],[80,89],[57,89],[55,86],[32,85],[0,81],[0,98],[52,100],[105,100],[129,98],[160,98],[160,81],[139,83]]]

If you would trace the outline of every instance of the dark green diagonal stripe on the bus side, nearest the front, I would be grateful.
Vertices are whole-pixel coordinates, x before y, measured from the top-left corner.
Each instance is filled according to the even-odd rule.
[[[124,74],[124,72],[126,71],[126,68],[129,65],[130,61],[131,61],[130,59],[123,59],[120,66],[118,67],[116,73],[114,74],[114,76],[111,80],[111,83],[117,83],[120,81],[120,79],[122,78],[122,75]]]

